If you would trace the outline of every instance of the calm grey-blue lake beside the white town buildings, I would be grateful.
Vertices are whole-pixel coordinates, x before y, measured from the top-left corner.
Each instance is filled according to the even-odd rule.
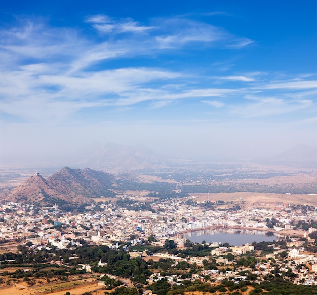
[[[229,243],[231,246],[241,246],[252,242],[277,241],[283,236],[271,232],[257,230],[217,229],[199,230],[186,233],[184,238],[195,243]]]

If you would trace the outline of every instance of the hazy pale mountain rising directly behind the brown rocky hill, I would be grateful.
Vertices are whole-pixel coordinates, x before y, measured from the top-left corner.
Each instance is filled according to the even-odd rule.
[[[108,143],[89,149],[85,152],[85,156],[74,164],[81,168],[90,167],[114,172],[160,169],[164,167],[163,162],[164,159],[161,156],[142,146],[131,147]]]

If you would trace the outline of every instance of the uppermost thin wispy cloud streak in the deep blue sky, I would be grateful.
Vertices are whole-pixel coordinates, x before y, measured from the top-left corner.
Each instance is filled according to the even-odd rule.
[[[146,41],[151,41],[153,48],[161,49],[179,48],[197,42],[242,48],[253,42],[251,39],[230,34],[223,28],[186,17],[156,18],[151,20],[150,25],[143,25],[131,18],[113,19],[106,15],[95,15],[86,18],[86,22],[104,34],[146,33]]]

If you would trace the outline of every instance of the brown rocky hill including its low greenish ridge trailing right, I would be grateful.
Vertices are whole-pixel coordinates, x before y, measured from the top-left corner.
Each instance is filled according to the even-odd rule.
[[[92,204],[93,199],[105,200],[132,191],[138,194],[163,191],[167,196],[175,195],[175,182],[160,180],[160,177],[133,172],[110,174],[90,168],[64,167],[46,179],[35,173],[0,200],[41,206],[56,203],[60,209],[70,210]]]

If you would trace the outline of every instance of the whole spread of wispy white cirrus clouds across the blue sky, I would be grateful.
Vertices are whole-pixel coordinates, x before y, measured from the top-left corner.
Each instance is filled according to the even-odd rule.
[[[195,67],[172,69],[165,62],[160,67],[125,66],[129,58],[142,63],[144,56],[155,60],[167,53],[177,55],[187,47],[199,52],[204,46],[223,49],[226,44],[242,42],[239,36],[222,28],[185,18],[153,19],[149,25],[106,15],[90,16],[85,21],[97,33],[103,30],[112,38],[101,34],[96,40],[90,39],[75,29],[30,20],[22,26],[0,30],[3,120],[11,116],[21,122],[59,124],[89,109],[116,107],[129,112],[131,107],[157,109],[172,107],[174,101],[189,100],[244,118],[314,107],[316,81],[306,80],[311,76],[264,80],[258,79],[262,73],[216,76],[202,74]],[[107,61],[113,62],[109,68]],[[221,88],[216,87],[219,80]],[[232,82],[236,82],[234,86]],[[239,82],[248,83],[236,86]],[[269,93],[274,89],[288,93],[278,99]],[[236,105],[241,97],[252,99]]]

